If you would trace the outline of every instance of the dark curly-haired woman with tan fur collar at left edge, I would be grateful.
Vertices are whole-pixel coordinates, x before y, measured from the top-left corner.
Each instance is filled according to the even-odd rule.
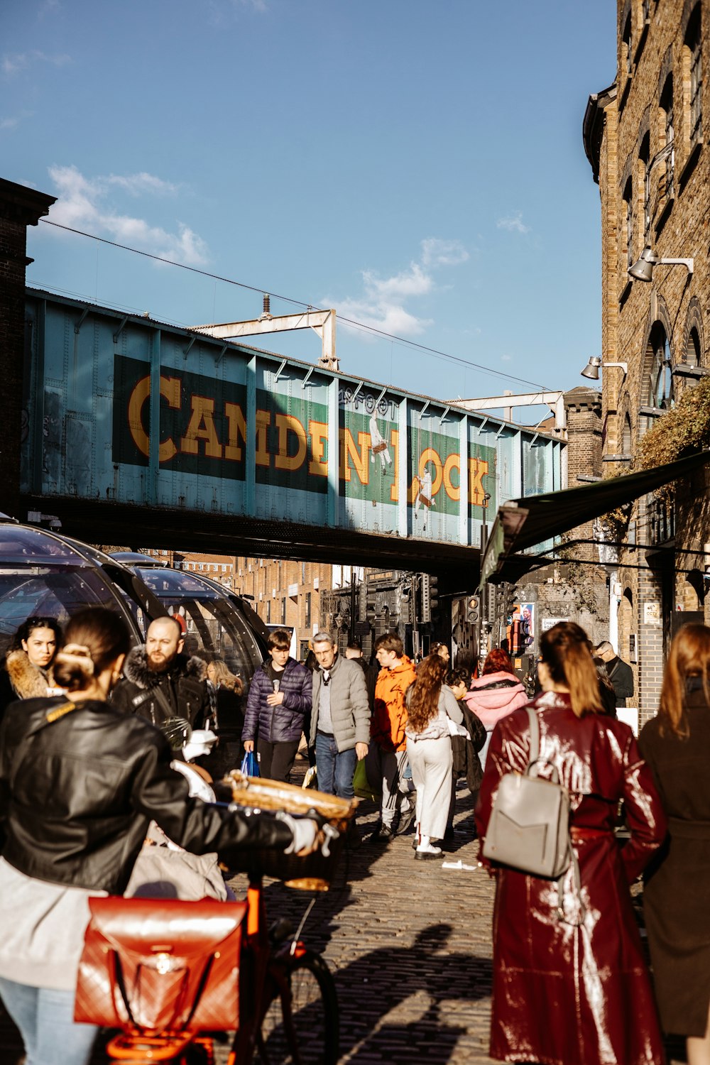
[[[62,627],[55,618],[28,618],[7,648],[0,672],[0,718],[17,699],[55,694],[51,668],[62,646]]]

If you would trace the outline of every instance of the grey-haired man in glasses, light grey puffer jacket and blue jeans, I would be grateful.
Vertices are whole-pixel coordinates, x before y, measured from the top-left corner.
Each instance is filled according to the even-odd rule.
[[[315,747],[318,789],[352,799],[352,774],[367,754],[369,703],[365,675],[337,654],[327,633],[313,637],[319,669],[313,673],[310,742]]]

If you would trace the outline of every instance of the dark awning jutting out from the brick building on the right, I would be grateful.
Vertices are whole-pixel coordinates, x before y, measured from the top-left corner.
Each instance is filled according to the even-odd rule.
[[[498,507],[491,529],[481,562],[481,585],[486,580],[496,584],[510,576],[517,579],[535,566],[534,556],[522,556],[518,552],[552,540],[672,480],[687,477],[709,459],[710,450],[698,452],[653,470],[610,477],[594,485],[509,499]],[[510,576],[506,576],[505,570]]]

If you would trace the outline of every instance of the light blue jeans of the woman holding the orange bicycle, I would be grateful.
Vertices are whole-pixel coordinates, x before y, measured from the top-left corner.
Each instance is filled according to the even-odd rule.
[[[98,1028],[73,1020],[75,993],[30,987],[0,977],[0,998],[20,1030],[26,1065],[85,1065]]]

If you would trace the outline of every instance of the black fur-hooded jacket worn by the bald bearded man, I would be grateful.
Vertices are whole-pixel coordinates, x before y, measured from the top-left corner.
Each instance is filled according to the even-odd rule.
[[[159,728],[170,716],[184,719],[192,728],[204,728],[210,717],[205,676],[207,666],[196,655],[188,658],[180,654],[167,672],[154,673],[145,646],[133,648],[111,703],[126,714],[141,715]]]

